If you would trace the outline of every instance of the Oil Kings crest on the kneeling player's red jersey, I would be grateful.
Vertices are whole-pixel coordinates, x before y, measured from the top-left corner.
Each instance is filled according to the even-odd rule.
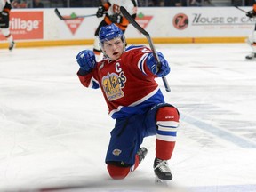
[[[122,89],[125,82],[124,72],[121,72],[119,76],[116,73],[108,73],[107,76],[103,76],[101,83],[108,100],[117,100],[124,97]]]

